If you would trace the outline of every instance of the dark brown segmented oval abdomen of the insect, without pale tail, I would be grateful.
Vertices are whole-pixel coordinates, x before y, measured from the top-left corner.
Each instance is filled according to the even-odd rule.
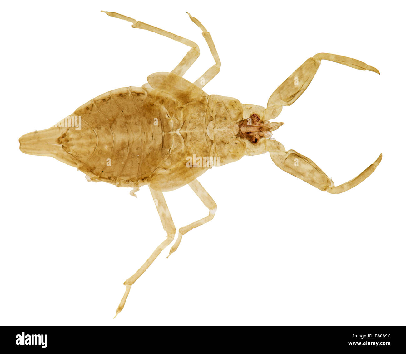
[[[179,106],[171,97],[143,88],[119,88],[79,107],[82,127],[91,128],[97,144],[78,166],[93,179],[136,187],[168,158],[173,121]],[[180,114],[181,115],[181,114]]]

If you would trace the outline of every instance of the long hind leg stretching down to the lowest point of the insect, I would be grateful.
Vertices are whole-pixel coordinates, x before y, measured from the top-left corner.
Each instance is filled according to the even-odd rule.
[[[137,270],[137,272],[130,278],[128,278],[125,282],[125,293],[123,296],[123,299],[121,300],[121,303],[119,307],[117,307],[117,312],[116,316],[121,312],[121,310],[124,307],[125,300],[127,300],[128,293],[130,292],[131,285],[134,284],[134,282],[147,270],[147,268],[152,264],[152,262],[155,260],[156,257],[161,253],[161,251],[168,246],[172,241],[173,238],[175,237],[175,232],[176,228],[175,225],[172,221],[171,213],[169,212],[168,206],[166,205],[164,195],[162,192],[155,191],[151,187],[149,188],[151,191],[152,197],[155,201],[155,206],[156,210],[158,210],[159,217],[161,218],[162,226],[164,227],[164,230],[168,234],[166,236],[166,239],[164,242],[162,242],[156,249],[153,251],[153,253],[149,256],[147,261],[141,266],[140,269]],[[114,317],[116,317],[114,316]]]

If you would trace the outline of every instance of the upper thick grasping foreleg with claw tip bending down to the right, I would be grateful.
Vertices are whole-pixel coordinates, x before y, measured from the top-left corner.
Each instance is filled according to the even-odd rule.
[[[300,97],[313,80],[321,60],[330,60],[354,69],[368,70],[379,74],[378,69],[359,60],[336,54],[318,53],[313,58],[307,59],[272,93],[265,110],[265,120],[276,118],[281,113],[282,106],[290,106]]]

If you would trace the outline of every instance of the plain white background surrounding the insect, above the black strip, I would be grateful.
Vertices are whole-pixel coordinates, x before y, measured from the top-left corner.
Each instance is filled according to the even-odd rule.
[[[318,52],[350,56],[381,75],[323,61],[276,121],[274,138],[336,185],[382,152],[376,171],[339,195],[321,192],[269,154],[215,167],[199,181],[216,217],[164,250],[112,319],[122,285],[166,236],[147,187],[86,182],[18,138],[50,127],[106,91],[171,71],[188,47],[100,10],[196,41],[194,81],[208,94],[266,106]],[[0,324],[405,325],[405,50],[402,2],[69,1],[2,5]],[[164,193],[177,228],[207,214],[188,186]]]

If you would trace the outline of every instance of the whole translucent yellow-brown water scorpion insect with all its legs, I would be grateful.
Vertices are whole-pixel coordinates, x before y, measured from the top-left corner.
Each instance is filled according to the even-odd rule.
[[[162,226],[167,234],[148,260],[128,278],[116,315],[123,309],[131,285],[145,272],[176,233],[163,191],[189,185],[207,207],[207,217],[179,228],[169,251],[176,251],[186,232],[207,223],[216,213],[216,203],[197,178],[214,165],[221,166],[244,155],[269,152],[283,171],[328,193],[348,191],[367,178],[379,165],[382,154],[361,174],[342,185],[333,181],[311,159],[285,150],[272,137],[283,123],[273,122],[283,106],[292,105],[307,89],[322,60],[358,70],[379,71],[345,56],[318,53],[307,59],[270,96],[266,107],[242,104],[237,99],[208,95],[202,88],[220,70],[220,59],[212,37],[194,17],[215,64],[194,83],[182,76],[199,56],[196,43],[118,13],[107,15],[130,21],[133,28],[161,34],[190,47],[171,73],[154,73],[142,87],[118,88],[92,99],[53,127],[20,137],[26,154],[52,156],[77,167],[89,181],[131,187],[131,195],[148,185]]]

